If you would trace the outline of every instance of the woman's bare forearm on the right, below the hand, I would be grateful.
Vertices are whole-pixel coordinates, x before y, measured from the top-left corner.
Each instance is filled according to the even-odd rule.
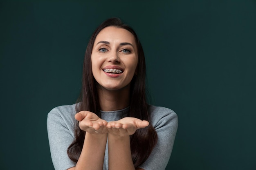
[[[135,170],[130,151],[130,136],[117,137],[108,133],[109,170]]]

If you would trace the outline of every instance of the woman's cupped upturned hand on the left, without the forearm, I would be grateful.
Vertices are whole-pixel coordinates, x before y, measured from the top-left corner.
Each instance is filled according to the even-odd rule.
[[[104,134],[108,130],[106,125],[107,121],[99,118],[96,114],[89,111],[81,111],[76,113],[75,119],[79,121],[79,127],[81,130],[84,130],[92,134]]]

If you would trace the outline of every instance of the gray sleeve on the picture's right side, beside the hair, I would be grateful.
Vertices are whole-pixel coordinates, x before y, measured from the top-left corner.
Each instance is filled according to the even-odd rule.
[[[165,170],[173,149],[178,117],[168,108],[151,106],[150,110],[158,141],[148,159],[139,167],[144,170]]]

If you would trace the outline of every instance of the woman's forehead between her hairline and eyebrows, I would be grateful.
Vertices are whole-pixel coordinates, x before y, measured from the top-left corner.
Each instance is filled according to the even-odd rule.
[[[108,41],[108,42],[130,42],[133,45],[136,45],[135,38],[126,29],[118,28],[115,26],[108,26],[102,29],[95,39],[95,43],[99,41]]]

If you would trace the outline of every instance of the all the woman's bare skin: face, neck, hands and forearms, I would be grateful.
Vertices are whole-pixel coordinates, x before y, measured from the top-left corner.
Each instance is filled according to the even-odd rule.
[[[130,82],[138,63],[133,35],[125,29],[106,27],[97,35],[91,57],[101,110],[120,110],[129,106]],[[103,68],[109,66],[118,66],[123,73],[111,77],[103,71]],[[86,135],[76,167],[69,170],[102,170],[107,138],[109,170],[135,170],[130,151],[130,135],[148,126],[148,121],[125,117],[108,123],[89,111],[77,113],[75,119],[79,121],[79,127],[86,131]]]

